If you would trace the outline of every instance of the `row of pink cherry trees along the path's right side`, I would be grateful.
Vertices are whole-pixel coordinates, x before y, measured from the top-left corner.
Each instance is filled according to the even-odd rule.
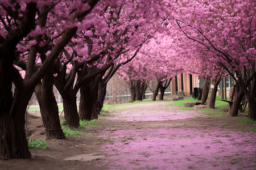
[[[176,1],[171,2],[172,11],[165,19],[164,36],[159,40],[167,41],[156,44],[148,43],[149,48],[143,46],[142,56],[138,62],[124,66],[121,75],[129,82],[131,80],[151,81],[166,80],[160,74],[152,71],[155,63],[168,56],[164,65],[170,68],[168,76],[179,74],[179,69],[204,78],[204,88],[201,103],[204,104],[209,97],[209,107],[214,108],[216,92],[221,79],[230,76],[236,82],[236,95],[230,111],[231,116],[237,116],[240,103],[244,97],[249,103],[249,118],[256,120],[256,84],[255,84],[255,3],[248,1]],[[157,40],[157,41],[159,41]],[[171,50],[166,50],[171,49]],[[159,49],[160,48],[160,49]],[[163,52],[160,54],[159,50]],[[166,50],[166,51],[164,51]],[[145,52],[146,51],[146,52]],[[153,51],[153,52],[152,52]],[[157,71],[166,70],[156,66]],[[175,68],[175,69],[174,69]],[[140,70],[139,70],[140,69]],[[130,70],[130,71],[129,71]],[[155,70],[155,69],[153,69]],[[138,75],[142,74],[142,75]],[[142,79],[141,76],[144,78]],[[159,79],[159,78],[160,79]],[[130,83],[131,84],[131,83]],[[212,85],[213,88],[210,88]],[[156,88],[157,89],[157,88]],[[158,90],[156,90],[158,92]],[[157,94],[157,93],[156,93]]]

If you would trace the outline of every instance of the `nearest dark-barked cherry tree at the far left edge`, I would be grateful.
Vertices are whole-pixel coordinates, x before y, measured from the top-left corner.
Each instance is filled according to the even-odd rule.
[[[77,1],[81,2],[81,1]],[[69,17],[63,24],[63,32],[55,37],[53,46],[40,69],[34,70],[36,57],[40,56],[42,46],[52,40],[44,39],[44,33],[49,29],[46,25],[50,11],[63,12],[58,8],[59,1],[1,1],[1,36],[0,36],[0,129],[1,156],[5,158],[30,158],[26,135],[24,132],[24,113],[32,92],[40,79],[47,74],[61,50],[75,35],[77,27],[65,27],[65,22],[82,21],[84,16],[96,5],[97,1],[80,3],[81,6],[63,8]],[[30,46],[23,46],[29,41]],[[19,52],[30,48],[27,55],[26,75],[24,79],[14,67],[19,59]],[[12,84],[15,88],[12,90]]]

